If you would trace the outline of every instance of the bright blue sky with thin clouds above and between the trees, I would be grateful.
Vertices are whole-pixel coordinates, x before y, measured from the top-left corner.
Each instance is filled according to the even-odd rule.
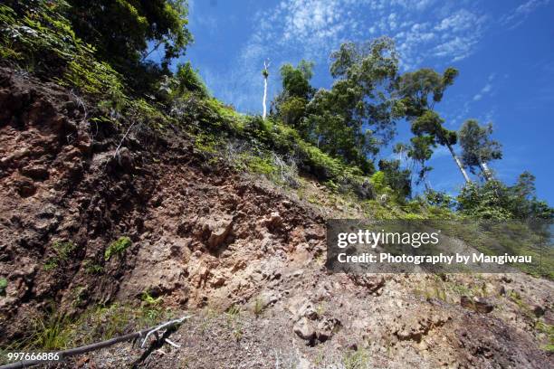
[[[189,0],[195,36],[191,61],[216,98],[247,113],[262,110],[263,60],[271,61],[270,97],[279,66],[315,61],[312,84],[330,88],[329,55],[343,41],[395,39],[402,71],[459,69],[436,109],[446,126],[467,118],[492,122],[504,158],[492,163],[513,183],[523,170],[537,176],[540,198],[554,204],[554,0]],[[398,140],[407,139],[406,125]],[[384,150],[383,156],[389,156]],[[439,148],[430,165],[435,189],[463,184],[453,159]]]

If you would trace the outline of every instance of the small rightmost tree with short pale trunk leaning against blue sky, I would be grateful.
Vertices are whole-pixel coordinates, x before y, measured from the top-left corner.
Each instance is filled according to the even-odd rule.
[[[502,157],[501,144],[492,140],[491,135],[492,124],[481,127],[475,119],[466,120],[458,133],[463,149],[463,164],[468,166],[473,174],[474,168],[479,166],[485,181],[492,179],[488,163]]]

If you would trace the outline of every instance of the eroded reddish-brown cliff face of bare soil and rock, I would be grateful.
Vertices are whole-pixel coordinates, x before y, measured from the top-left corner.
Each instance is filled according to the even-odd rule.
[[[185,136],[138,129],[116,153],[122,135],[91,120],[86,106],[60,87],[0,70],[2,345],[52,303],[77,315],[93,304],[139,304],[148,291],[192,312],[171,337],[180,348],[139,360],[139,348],[120,344],[65,365],[554,364],[536,329],[552,324],[551,282],[331,274],[323,262],[332,210],[323,215],[206,161]],[[120,237],[129,248],[106,260]],[[470,289],[492,311],[462,306],[460,291]]]

